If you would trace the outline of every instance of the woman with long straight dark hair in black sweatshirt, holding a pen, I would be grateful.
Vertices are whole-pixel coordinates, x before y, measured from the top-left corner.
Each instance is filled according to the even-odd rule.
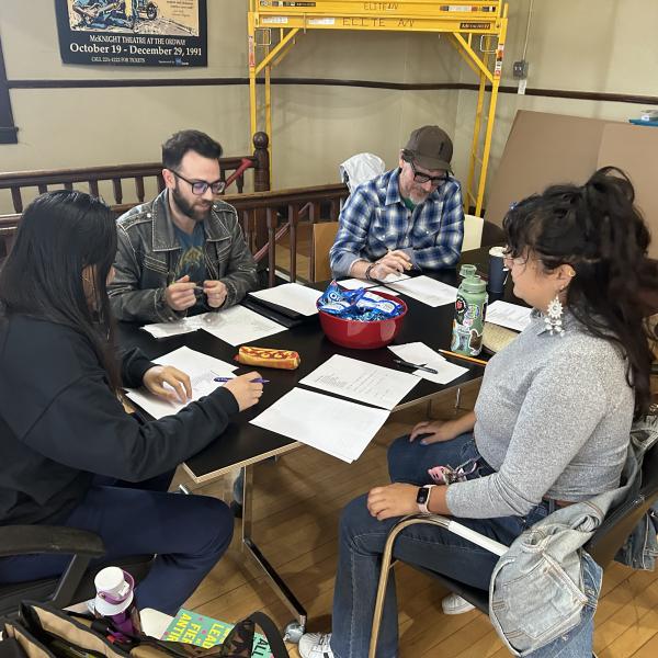
[[[144,424],[126,413],[121,386],[181,400],[191,389],[184,373],[137,350],[116,359],[106,293],[115,252],[113,214],[88,194],[43,194],[23,214],[0,272],[0,524],[93,531],[107,561],[157,554],[137,604],[174,614],[234,523],[220,500],[168,494],[173,469],[257,404],[262,384],[236,377]],[[0,558],[0,582],[60,574],[68,559]]]

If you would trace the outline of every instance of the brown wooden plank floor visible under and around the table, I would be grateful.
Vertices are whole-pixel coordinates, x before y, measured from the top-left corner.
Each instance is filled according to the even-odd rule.
[[[452,405],[452,397],[434,402],[432,416],[449,418]],[[302,447],[256,468],[254,538],[306,605],[309,631],[330,628],[340,510],[370,487],[387,481],[387,445],[427,411],[424,406],[394,415],[352,465]],[[191,488],[228,500],[230,478]],[[236,523],[231,548],[188,606],[231,622],[263,610],[285,625],[291,613],[251,558],[241,553],[238,534]],[[509,656],[486,615],[474,611],[445,616],[441,611],[445,591],[440,586],[405,565],[396,566],[396,574],[401,658]],[[633,571],[617,564],[606,570],[595,616],[594,649],[600,658],[658,656],[657,578],[658,572]],[[297,655],[291,645],[291,656]]]

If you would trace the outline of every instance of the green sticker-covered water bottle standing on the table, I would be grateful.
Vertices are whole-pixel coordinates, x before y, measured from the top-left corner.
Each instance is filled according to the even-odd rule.
[[[457,290],[451,350],[477,356],[483,349],[483,329],[487,313],[487,283],[476,274],[475,265],[462,265],[464,279]]]

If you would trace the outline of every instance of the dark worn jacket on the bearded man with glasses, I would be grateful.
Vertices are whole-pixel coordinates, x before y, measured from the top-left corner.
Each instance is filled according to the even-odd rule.
[[[167,194],[164,190],[154,201],[135,206],[117,219],[116,274],[107,288],[117,320],[164,322],[186,315],[171,309],[164,300],[180,252]],[[232,206],[216,201],[204,226],[207,277],[222,281],[228,288],[220,307],[227,308],[257,287],[256,262]]]

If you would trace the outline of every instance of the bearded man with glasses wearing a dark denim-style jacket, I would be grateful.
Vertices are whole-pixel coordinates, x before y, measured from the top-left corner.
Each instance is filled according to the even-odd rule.
[[[198,131],[162,145],[164,190],[117,220],[118,320],[162,322],[227,308],[257,287],[256,262],[224,192],[222,146]]]

